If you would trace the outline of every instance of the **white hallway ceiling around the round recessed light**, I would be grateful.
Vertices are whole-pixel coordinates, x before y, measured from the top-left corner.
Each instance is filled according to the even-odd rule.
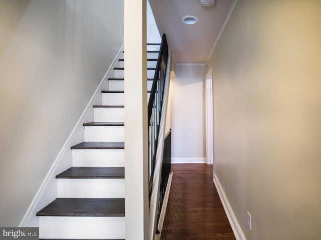
[[[166,34],[177,63],[206,63],[233,0],[216,0],[203,7],[200,0],[149,0],[159,33]],[[185,25],[182,18],[198,18]]]

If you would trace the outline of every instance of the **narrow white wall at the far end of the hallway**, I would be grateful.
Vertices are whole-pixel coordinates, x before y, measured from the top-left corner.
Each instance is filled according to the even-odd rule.
[[[171,79],[172,162],[204,162],[205,65],[177,64]]]

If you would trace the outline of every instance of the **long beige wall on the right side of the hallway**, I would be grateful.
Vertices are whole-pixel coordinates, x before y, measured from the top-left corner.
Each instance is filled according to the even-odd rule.
[[[206,66],[216,175],[248,240],[321,239],[320,11],[239,0]]]

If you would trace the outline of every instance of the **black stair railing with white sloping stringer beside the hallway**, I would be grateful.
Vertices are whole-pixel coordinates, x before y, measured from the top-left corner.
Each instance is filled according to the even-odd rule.
[[[170,57],[164,34],[148,101],[149,239],[159,233],[157,226],[171,171],[171,134],[167,140],[164,136]]]

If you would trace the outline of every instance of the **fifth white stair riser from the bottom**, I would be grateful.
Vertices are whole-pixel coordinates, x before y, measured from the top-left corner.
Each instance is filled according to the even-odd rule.
[[[94,108],[95,122],[123,122],[124,108]]]

